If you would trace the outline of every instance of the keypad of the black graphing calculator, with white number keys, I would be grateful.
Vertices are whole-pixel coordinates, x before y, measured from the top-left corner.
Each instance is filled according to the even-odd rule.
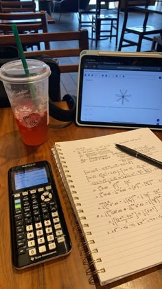
[[[14,212],[16,247],[28,262],[64,250],[66,235],[50,185],[14,194]]]

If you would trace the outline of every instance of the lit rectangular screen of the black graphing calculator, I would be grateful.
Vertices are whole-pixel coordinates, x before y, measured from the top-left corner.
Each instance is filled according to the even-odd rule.
[[[14,173],[15,189],[21,190],[48,182],[47,172],[44,167],[27,168]]]

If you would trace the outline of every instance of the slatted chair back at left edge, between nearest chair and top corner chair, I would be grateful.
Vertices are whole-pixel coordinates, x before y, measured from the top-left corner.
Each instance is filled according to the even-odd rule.
[[[41,12],[21,12],[21,13],[0,13],[0,30],[6,33],[12,32],[11,25],[15,23],[19,33],[25,32],[48,32],[47,30],[47,13]],[[25,37],[27,34],[25,34]],[[37,43],[35,33],[32,33],[34,43]],[[37,44],[36,44],[37,45]],[[49,43],[45,43],[45,48],[49,49]]]

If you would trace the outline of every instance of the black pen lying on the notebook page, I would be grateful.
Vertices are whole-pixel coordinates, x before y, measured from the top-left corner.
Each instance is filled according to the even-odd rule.
[[[153,166],[157,166],[158,168],[162,168],[162,162],[157,161],[157,159],[152,159],[146,155],[141,154],[141,152],[137,152],[137,150],[132,150],[132,148],[127,148],[127,146],[122,146],[120,144],[115,144],[119,150],[122,152],[126,152],[126,154],[131,155],[132,157],[137,157],[137,159],[141,159],[142,161],[147,161],[147,163],[152,164]]]

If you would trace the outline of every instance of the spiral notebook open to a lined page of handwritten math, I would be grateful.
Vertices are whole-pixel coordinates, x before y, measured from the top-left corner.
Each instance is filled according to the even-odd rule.
[[[52,148],[101,285],[162,262],[162,171],[115,143],[162,161],[148,128]]]

